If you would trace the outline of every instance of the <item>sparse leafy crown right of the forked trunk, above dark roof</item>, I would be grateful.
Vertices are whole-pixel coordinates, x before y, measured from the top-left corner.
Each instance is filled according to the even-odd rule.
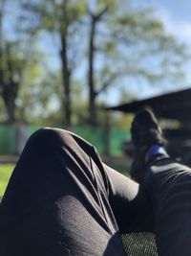
[[[164,81],[173,81],[174,85],[182,79],[180,67],[186,59],[186,47],[165,32],[151,8],[130,5],[127,12],[117,12],[111,27],[119,41],[118,56],[130,59],[125,67],[129,78],[152,85]]]

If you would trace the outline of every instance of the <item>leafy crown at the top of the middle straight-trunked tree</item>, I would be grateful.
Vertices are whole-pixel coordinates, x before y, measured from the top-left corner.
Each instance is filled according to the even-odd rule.
[[[85,1],[56,1],[56,0],[40,0],[23,1],[22,9],[24,13],[21,15],[21,20],[25,22],[26,29],[30,28],[31,20],[35,16],[37,22],[33,24],[32,30],[35,33],[49,32],[51,34],[68,34],[72,33],[73,25],[81,18],[85,12]],[[72,31],[68,31],[68,27]],[[31,31],[32,33],[32,31]]]

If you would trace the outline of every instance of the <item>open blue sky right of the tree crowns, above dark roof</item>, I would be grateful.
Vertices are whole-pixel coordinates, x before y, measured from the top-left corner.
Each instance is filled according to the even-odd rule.
[[[191,48],[191,1],[190,0],[148,0],[148,2],[154,7],[159,16],[159,19],[163,22],[166,31],[175,35],[184,42],[188,48]],[[186,68],[186,79],[180,84],[180,89],[191,87],[191,61]],[[167,88],[145,89],[142,94],[142,98],[148,98],[153,95],[165,93]],[[179,88],[175,88],[177,90]]]

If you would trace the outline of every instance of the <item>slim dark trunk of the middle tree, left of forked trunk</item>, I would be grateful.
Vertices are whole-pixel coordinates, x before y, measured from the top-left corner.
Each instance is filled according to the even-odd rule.
[[[62,81],[64,87],[64,112],[65,125],[67,128],[71,127],[71,72],[68,67],[67,58],[67,39],[66,35],[61,35],[62,49],[60,51],[60,58],[62,63]]]

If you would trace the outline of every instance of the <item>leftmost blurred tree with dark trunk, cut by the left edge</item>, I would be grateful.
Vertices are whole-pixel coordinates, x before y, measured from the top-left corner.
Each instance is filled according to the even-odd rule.
[[[30,51],[25,47],[23,38],[17,37],[16,31],[10,31],[12,36],[5,33],[4,20],[9,12],[8,4],[6,0],[0,3],[0,93],[7,109],[8,123],[13,124],[16,99]]]

